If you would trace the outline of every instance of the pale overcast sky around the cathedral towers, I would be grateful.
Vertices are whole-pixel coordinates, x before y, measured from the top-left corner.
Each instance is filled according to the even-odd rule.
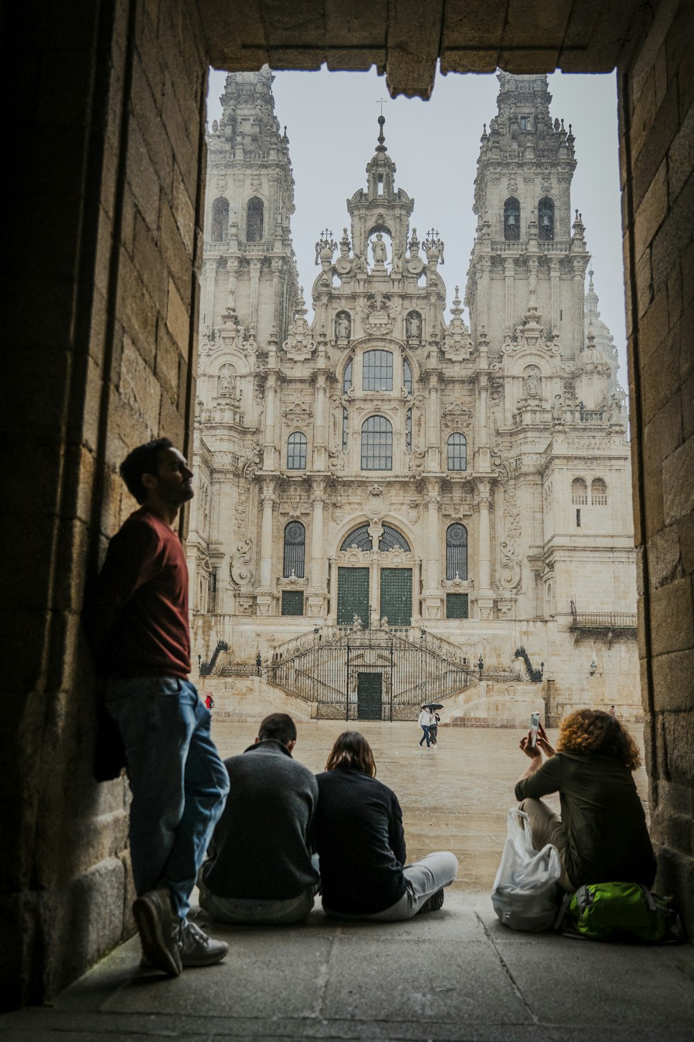
[[[225,76],[210,71],[209,123],[222,114]],[[555,73],[548,78],[551,118],[563,119],[567,129],[571,123],[575,135],[571,206],[583,214],[600,316],[619,350],[619,381],[626,388],[615,75]],[[366,187],[379,98],[388,99],[383,115],[388,154],[396,166],[395,187],[414,199],[411,226],[420,240],[429,228],[438,230],[445,243],[439,272],[447,288],[446,307],[457,284],[462,298],[477,225],[472,194],[480,135],[483,124],[496,115],[496,76],[437,74],[432,99],[420,101],[389,99],[384,78],[375,71],[277,72],[273,93],[277,118],[289,138],[297,206],[291,233],[309,313],[318,272],[314,244],[323,228],[331,229],[336,241],[345,225],[349,229],[345,200]]]

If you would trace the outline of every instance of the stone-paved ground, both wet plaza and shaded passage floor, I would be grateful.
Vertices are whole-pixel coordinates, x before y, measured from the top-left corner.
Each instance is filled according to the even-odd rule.
[[[175,981],[138,969],[133,938],[53,1008],[0,1017],[0,1036],[694,1042],[690,945],[600,945],[514,934],[496,920],[489,890],[523,766],[520,735],[442,728],[434,753],[417,747],[414,724],[359,726],[374,746],[378,776],[401,799],[410,859],[447,848],[460,861],[440,912],[405,923],[337,924],[318,907],[299,926],[215,925],[211,932],[230,942],[228,957]],[[220,722],[214,737],[229,755],[256,729]],[[322,769],[342,729],[338,721],[301,724],[297,759]],[[643,794],[643,772],[638,780]]]

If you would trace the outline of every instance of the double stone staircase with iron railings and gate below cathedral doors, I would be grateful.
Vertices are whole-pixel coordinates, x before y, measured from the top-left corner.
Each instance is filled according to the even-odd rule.
[[[267,665],[267,679],[316,702],[318,719],[411,720],[422,702],[440,701],[477,680],[469,660],[443,643],[426,635],[412,641],[387,627],[317,631],[291,653],[276,654]],[[379,716],[365,716],[374,712],[365,706],[374,705],[377,686]]]

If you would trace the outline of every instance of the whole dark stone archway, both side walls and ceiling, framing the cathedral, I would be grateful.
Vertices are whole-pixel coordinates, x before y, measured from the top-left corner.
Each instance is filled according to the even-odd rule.
[[[633,0],[596,11],[575,2],[522,24],[496,24],[482,3],[459,18],[440,0],[344,21],[327,18],[323,0],[303,10],[300,27],[291,6],[258,11],[238,0],[88,9],[56,0],[40,16],[30,4],[3,13],[8,79],[24,99],[7,137],[31,157],[11,165],[6,188],[9,1004],[49,998],[130,929],[123,782],[92,776],[96,700],[79,613],[103,536],[130,505],[120,460],[153,435],[184,451],[192,436],[210,61],[375,63],[393,94],[421,97],[439,56],[443,72],[617,66],[652,829],[659,886],[694,927],[694,858],[682,838],[694,792],[691,6]]]

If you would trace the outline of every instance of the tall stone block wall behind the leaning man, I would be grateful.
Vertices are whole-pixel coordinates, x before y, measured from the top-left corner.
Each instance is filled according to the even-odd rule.
[[[124,779],[97,785],[85,581],[118,466],[195,394],[207,56],[195,3],[3,11],[12,42],[0,992],[41,1002],[131,929]]]

